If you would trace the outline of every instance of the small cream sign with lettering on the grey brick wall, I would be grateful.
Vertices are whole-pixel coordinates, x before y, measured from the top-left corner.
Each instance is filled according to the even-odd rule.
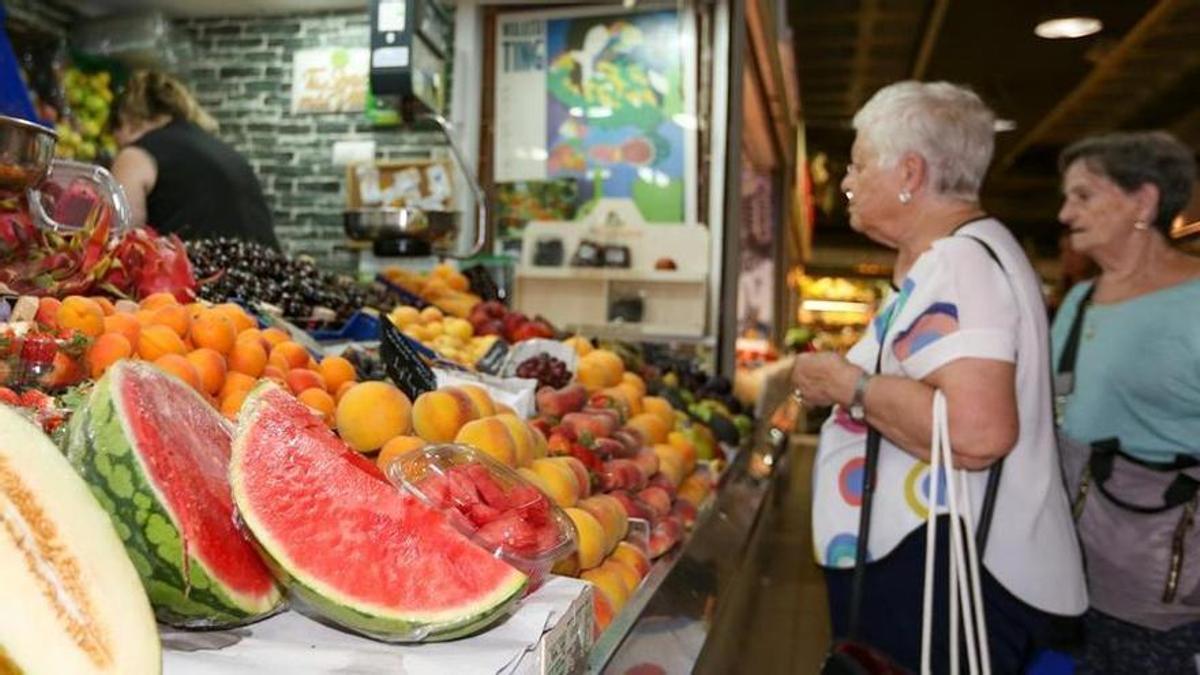
[[[371,50],[362,47],[300,49],[292,59],[293,113],[366,109]]]

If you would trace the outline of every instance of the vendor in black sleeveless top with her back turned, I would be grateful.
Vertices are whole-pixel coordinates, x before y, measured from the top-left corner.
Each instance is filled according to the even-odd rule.
[[[139,71],[116,106],[113,175],[133,225],[184,239],[228,237],[278,249],[254,169],[212,132],[216,123],[179,80]]]

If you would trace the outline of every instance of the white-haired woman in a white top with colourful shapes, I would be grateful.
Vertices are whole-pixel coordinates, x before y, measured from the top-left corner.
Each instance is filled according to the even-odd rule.
[[[833,406],[817,450],[812,526],[834,635],[851,633],[914,671],[935,390],[947,399],[956,465],[971,473],[992,671],[1024,671],[1087,607],[1055,446],[1040,285],[979,204],[994,124],[976,94],[948,83],[892,84],[854,115],[842,181],[850,221],[896,250],[894,293],[845,358],[804,354],[793,370],[798,396]],[[863,509],[868,472],[874,506]],[[932,663],[944,665],[941,518]]]

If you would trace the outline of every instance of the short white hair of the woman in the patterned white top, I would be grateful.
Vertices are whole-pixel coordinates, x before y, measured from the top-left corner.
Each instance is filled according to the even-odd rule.
[[[991,163],[996,115],[979,96],[948,82],[905,80],[871,96],[854,114],[854,131],[892,167],[920,155],[930,185],[946,197],[977,199]]]

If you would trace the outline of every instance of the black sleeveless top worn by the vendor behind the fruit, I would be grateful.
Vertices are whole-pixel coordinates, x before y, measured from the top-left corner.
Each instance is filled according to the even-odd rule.
[[[236,150],[184,120],[133,144],[158,167],[146,196],[146,225],[182,239],[229,237],[280,247],[254,169]]]

